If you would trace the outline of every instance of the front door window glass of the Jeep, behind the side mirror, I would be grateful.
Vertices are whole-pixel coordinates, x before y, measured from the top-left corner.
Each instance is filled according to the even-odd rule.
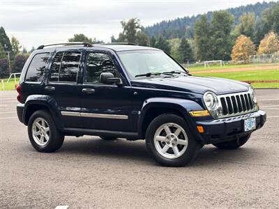
[[[119,77],[112,58],[108,54],[90,52],[87,56],[84,82],[100,84],[100,74],[102,72],[112,72],[115,77]]]

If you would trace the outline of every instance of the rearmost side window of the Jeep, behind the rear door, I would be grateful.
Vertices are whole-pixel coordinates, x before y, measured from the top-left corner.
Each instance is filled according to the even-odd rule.
[[[26,82],[41,82],[43,80],[43,72],[49,56],[50,53],[42,53],[33,57],[25,77]]]

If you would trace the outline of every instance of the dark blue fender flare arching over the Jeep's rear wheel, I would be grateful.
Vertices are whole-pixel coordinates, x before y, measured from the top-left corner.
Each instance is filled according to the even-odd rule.
[[[63,128],[63,125],[61,123],[61,118],[59,116],[59,114],[57,113],[57,103],[54,100],[54,98],[52,98],[52,96],[50,95],[29,95],[27,97],[27,100],[25,101],[24,104],[24,110],[23,110],[23,114],[22,114],[22,118],[24,121],[25,125],[28,125],[27,123],[27,119],[26,119],[26,115],[27,115],[27,110],[29,109],[29,107],[31,105],[43,105],[45,106],[49,111],[50,111],[50,115],[52,116],[54,123],[56,124],[56,127],[59,128],[59,130],[61,130]]]

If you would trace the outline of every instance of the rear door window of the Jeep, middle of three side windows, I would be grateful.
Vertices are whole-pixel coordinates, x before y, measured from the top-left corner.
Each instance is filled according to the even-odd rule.
[[[80,52],[59,52],[52,63],[50,81],[76,82],[80,65]]]

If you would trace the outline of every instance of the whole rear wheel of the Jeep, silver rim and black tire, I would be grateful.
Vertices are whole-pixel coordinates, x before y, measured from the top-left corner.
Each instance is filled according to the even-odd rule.
[[[41,153],[52,153],[58,150],[64,141],[64,136],[57,130],[52,116],[45,110],[35,111],[31,115],[28,135],[33,148]]]

